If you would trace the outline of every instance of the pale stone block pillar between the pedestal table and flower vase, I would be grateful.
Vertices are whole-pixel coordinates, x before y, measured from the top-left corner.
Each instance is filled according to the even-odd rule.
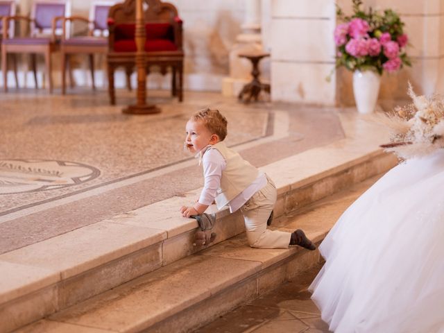
[[[334,0],[271,2],[271,99],[334,105]]]

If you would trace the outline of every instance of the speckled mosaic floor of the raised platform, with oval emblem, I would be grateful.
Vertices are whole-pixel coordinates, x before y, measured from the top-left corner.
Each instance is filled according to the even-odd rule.
[[[178,103],[163,91],[149,97],[160,114],[123,114],[133,94],[117,92],[115,106],[86,89],[0,94],[0,253],[201,187],[182,149],[196,110],[221,110],[228,145],[257,167],[343,139],[341,117],[354,114],[216,93],[186,92]]]

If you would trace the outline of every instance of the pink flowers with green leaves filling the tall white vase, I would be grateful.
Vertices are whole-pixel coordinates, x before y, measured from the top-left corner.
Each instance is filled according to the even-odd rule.
[[[411,66],[404,50],[408,37],[402,30],[404,23],[391,9],[379,13],[373,8],[361,9],[361,0],[353,1],[353,15],[345,16],[341,8],[336,15],[342,24],[334,30],[336,68],[350,71],[371,69],[378,74],[385,70],[398,71],[402,65]]]

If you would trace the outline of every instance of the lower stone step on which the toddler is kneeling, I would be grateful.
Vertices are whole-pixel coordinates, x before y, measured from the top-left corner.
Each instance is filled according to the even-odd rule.
[[[303,228],[319,244],[378,177],[285,216],[273,228]],[[190,332],[319,262],[317,250],[249,248],[242,233],[18,332]]]

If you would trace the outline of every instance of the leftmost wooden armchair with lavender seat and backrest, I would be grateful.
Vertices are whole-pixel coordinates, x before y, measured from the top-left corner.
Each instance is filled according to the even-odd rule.
[[[31,11],[31,17],[9,16],[3,18],[3,25],[8,26],[10,22],[24,20],[30,26],[27,37],[8,36],[3,27],[3,42],[1,47],[1,69],[3,71],[3,83],[5,92],[8,91],[8,66],[7,56],[10,53],[27,53],[31,55],[35,87],[37,87],[37,54],[44,55],[46,65],[46,76],[48,77],[49,92],[53,90],[51,79],[51,54],[58,51],[57,36],[62,32],[62,22],[58,17],[69,16],[71,3],[69,0],[35,0]]]

